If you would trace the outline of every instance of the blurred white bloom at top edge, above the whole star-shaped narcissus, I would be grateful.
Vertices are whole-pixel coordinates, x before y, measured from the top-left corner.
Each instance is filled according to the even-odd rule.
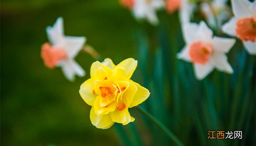
[[[207,18],[207,22],[211,27],[221,26],[222,23],[229,18],[230,11],[226,5],[227,0],[213,0],[211,5],[208,3],[202,3],[201,9]],[[212,9],[211,9],[212,7]],[[212,12],[214,11],[214,12]],[[214,15],[217,18],[217,24],[215,23]],[[216,26],[217,25],[217,26]]]

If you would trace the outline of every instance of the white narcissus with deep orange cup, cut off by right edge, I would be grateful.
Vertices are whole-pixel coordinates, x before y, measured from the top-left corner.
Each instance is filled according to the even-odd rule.
[[[249,54],[256,54],[256,1],[231,0],[234,17],[225,23],[222,31],[239,38]]]

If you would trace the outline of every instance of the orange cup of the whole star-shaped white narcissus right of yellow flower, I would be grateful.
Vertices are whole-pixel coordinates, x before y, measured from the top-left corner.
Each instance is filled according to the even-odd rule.
[[[209,61],[212,50],[212,45],[210,43],[203,43],[201,41],[192,43],[189,46],[191,62],[202,65],[206,64]]]

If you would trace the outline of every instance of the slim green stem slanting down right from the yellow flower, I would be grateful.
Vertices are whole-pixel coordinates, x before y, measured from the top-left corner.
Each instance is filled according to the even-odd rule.
[[[160,128],[165,134],[169,136],[170,139],[172,139],[177,146],[184,146],[184,144],[178,139],[173,132],[171,132],[162,122],[160,122],[158,119],[156,119],[153,115],[148,113],[142,106],[138,105],[136,108],[140,113],[145,115],[151,122],[153,122],[158,128]]]

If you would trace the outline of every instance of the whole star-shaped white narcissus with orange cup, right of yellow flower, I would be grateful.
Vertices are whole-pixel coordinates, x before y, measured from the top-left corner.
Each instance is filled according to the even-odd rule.
[[[177,57],[193,63],[198,80],[202,80],[214,68],[233,73],[226,53],[236,42],[235,39],[212,37],[212,30],[203,21],[200,24],[182,24],[182,32],[186,45]]]

